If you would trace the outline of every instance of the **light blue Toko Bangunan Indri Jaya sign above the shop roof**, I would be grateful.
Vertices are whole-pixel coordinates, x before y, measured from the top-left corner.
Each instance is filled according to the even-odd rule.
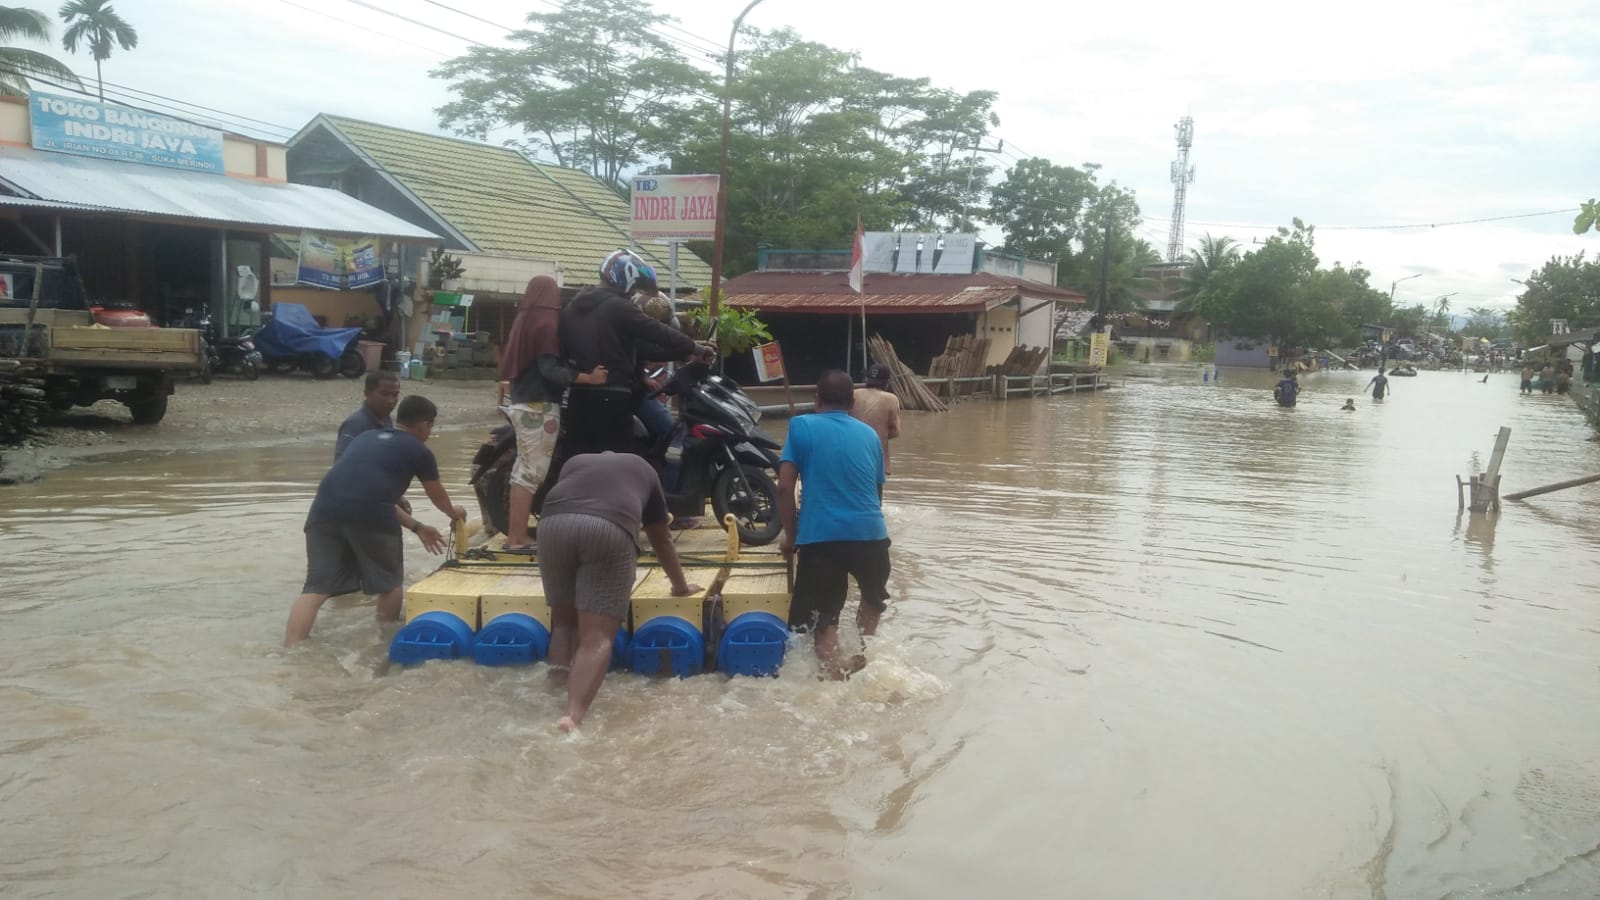
[[[128,106],[32,91],[35,151],[224,175],[222,133]]]

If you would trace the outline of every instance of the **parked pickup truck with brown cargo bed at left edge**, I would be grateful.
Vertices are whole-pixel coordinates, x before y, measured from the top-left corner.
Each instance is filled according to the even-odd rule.
[[[166,415],[173,376],[205,365],[203,338],[194,328],[150,327],[131,309],[106,312],[88,301],[72,258],[0,256],[0,359],[37,362],[58,410],[117,400],[134,423],[155,424]]]

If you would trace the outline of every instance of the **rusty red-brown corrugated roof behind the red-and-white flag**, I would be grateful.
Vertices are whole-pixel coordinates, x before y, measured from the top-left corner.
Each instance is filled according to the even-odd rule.
[[[990,272],[971,275],[867,274],[864,291],[848,272],[746,272],[726,283],[728,306],[762,312],[981,312],[1014,298],[1083,303],[1083,295]]]

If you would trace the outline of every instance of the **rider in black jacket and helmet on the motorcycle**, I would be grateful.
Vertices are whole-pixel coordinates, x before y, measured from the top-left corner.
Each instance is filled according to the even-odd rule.
[[[634,410],[642,388],[642,360],[688,360],[699,349],[634,304],[637,293],[654,295],[656,271],[632,250],[618,250],[600,263],[600,283],[584,288],[562,311],[562,356],[578,372],[605,372],[603,384],[573,384],[562,410],[562,436],[550,471],[539,485],[533,509],[578,453],[634,448]]]

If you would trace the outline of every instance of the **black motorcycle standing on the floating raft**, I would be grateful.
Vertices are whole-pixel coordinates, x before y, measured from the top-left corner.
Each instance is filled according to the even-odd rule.
[[[634,420],[635,452],[662,472],[667,511],[678,517],[712,512],[720,524],[733,514],[739,541],[749,546],[778,540],[778,450],[757,423],[760,408],[739,384],[712,373],[702,362],[678,367],[672,380],[651,397],[678,397],[682,416],[672,431],[650,439]],[[496,428],[472,458],[472,488],[483,520],[506,533],[510,520],[510,468],[517,460],[517,436],[509,424]]]

